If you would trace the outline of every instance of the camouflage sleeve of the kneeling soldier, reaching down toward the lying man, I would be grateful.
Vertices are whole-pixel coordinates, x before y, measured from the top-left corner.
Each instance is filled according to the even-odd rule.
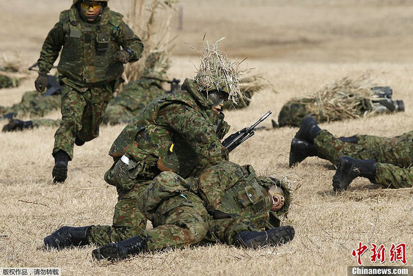
[[[228,151],[207,120],[195,109],[172,104],[160,110],[157,123],[165,124],[178,132],[201,158],[210,164],[228,160]]]

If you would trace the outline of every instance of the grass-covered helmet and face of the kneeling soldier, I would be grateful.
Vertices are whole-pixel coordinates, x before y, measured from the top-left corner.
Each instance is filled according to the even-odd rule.
[[[202,47],[201,62],[195,76],[199,91],[211,102],[215,112],[220,112],[226,101],[238,102],[240,92],[240,63],[231,62],[226,54],[218,50],[217,41],[213,47]]]

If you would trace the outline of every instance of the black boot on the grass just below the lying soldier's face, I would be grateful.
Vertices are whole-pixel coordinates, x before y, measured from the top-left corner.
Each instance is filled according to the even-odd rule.
[[[267,245],[277,246],[279,244],[286,244],[293,240],[294,235],[293,226],[279,226],[262,232],[240,232],[235,235],[234,242],[236,245],[244,248],[257,249]]]

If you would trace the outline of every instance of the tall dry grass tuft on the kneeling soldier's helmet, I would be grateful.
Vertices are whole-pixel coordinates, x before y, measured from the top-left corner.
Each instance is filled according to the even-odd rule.
[[[200,65],[197,68],[198,74],[195,81],[200,91],[208,92],[215,89],[222,90],[229,94],[229,100],[238,103],[242,98],[240,91],[240,63],[231,62],[226,54],[218,50],[218,43],[225,39],[218,39],[212,47],[207,45],[198,46],[195,50],[201,54]]]

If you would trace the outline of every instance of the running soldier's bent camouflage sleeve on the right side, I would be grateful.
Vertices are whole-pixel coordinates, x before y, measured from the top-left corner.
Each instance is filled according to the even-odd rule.
[[[142,56],[143,43],[125,22],[120,23],[117,38],[117,42],[122,45],[123,49],[131,50],[132,56],[129,58],[129,62],[138,61]]]

